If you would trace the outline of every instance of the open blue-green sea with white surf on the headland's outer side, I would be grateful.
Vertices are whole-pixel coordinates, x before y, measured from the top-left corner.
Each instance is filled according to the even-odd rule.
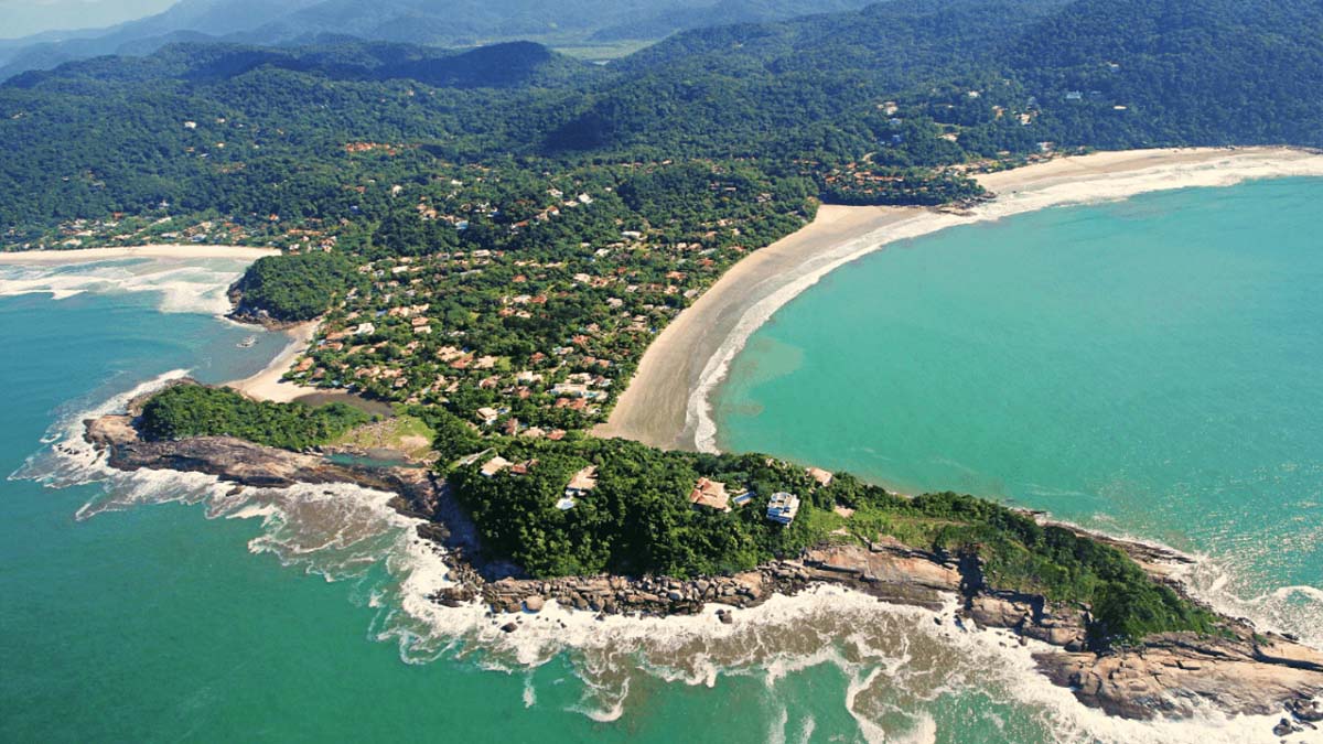
[[[0,267],[0,469],[13,473],[0,481],[0,741],[852,741],[882,731],[922,741],[938,725],[957,731],[955,719],[966,732],[1048,740],[1049,706],[947,687],[958,646],[931,631],[894,642],[929,617],[882,613],[848,629],[849,600],[837,597],[771,608],[766,630],[713,641],[706,629],[724,626],[712,618],[673,633],[598,631],[581,618],[503,646],[480,614],[447,624],[404,612],[429,567],[380,498],[229,498],[204,477],[99,467],[78,442],[82,418],[168,376],[250,375],[282,348],[282,336],[257,332],[238,349],[254,330],[212,314],[239,270]],[[126,277],[135,291],[114,290]],[[34,287],[61,299],[16,294]],[[921,646],[926,657],[897,673],[914,682],[889,683]]]

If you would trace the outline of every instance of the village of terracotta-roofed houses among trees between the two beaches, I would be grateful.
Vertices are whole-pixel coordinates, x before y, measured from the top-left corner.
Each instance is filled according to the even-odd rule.
[[[537,214],[553,220],[569,205],[598,203],[566,193],[574,192],[552,189],[558,207]],[[426,218],[458,230],[470,226],[462,217],[500,213],[484,201],[426,201]],[[463,248],[372,261],[292,376],[445,405],[488,434],[564,437],[606,418],[652,338],[738,259],[738,246],[705,240],[738,232],[720,222],[688,240],[619,225],[591,242],[515,250],[460,241]]]

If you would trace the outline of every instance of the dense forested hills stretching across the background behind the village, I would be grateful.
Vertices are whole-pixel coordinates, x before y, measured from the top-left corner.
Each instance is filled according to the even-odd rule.
[[[210,210],[270,238],[380,218],[347,183],[474,162],[741,158],[831,200],[931,203],[970,195],[942,165],[1044,142],[1320,146],[1320,38],[1307,0],[896,0],[684,32],[606,68],[529,44],[177,45],[0,89],[0,146],[22,154],[0,163],[0,234]],[[357,142],[401,155],[365,163]],[[869,188],[828,183],[840,169]]]

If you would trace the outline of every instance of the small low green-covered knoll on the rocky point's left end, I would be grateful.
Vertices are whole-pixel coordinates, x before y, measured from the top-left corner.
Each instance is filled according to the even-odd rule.
[[[324,445],[370,421],[343,402],[312,408],[300,402],[258,402],[229,388],[175,385],[143,406],[140,430],[148,440],[237,437],[290,450]]]

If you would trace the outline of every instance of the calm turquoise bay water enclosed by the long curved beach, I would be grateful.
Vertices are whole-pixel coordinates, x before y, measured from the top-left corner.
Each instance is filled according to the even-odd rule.
[[[1323,180],[1058,208],[897,244],[750,338],[721,445],[1211,559],[1323,642]]]

